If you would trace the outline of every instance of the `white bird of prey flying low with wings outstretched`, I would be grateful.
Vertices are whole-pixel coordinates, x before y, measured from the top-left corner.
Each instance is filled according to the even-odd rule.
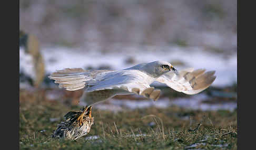
[[[178,71],[169,62],[153,61],[114,71],[66,68],[53,72],[49,78],[69,91],[85,88],[80,100],[91,105],[115,95],[134,93],[156,101],[160,90],[150,87],[154,81],[165,83],[178,92],[196,94],[211,85],[216,78],[214,73],[193,68]]]

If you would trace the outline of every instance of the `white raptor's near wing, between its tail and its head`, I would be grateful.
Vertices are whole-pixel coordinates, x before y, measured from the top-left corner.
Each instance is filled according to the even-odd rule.
[[[139,70],[107,72],[96,77],[95,82],[89,83],[86,91],[116,90],[118,91],[116,95],[136,93],[156,101],[160,97],[160,90],[154,90],[153,87],[150,87],[149,81],[146,81],[147,76]]]

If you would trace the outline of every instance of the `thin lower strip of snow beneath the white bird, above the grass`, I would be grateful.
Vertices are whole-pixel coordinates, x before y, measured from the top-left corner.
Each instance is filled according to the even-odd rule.
[[[109,110],[113,112],[123,111],[124,109],[145,109],[150,107],[155,108],[168,108],[169,106],[176,105],[181,108],[191,110],[202,110],[202,111],[217,111],[217,110],[229,110],[233,111],[237,109],[236,102],[225,102],[225,103],[203,103],[204,100],[209,99],[208,95],[204,93],[193,95],[189,98],[175,98],[169,100],[169,98],[160,98],[157,101],[152,100],[109,100],[109,104],[95,104],[94,108],[100,110]]]

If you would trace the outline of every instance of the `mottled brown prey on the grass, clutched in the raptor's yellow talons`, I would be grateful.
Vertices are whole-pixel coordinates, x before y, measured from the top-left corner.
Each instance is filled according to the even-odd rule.
[[[92,106],[85,106],[79,112],[68,112],[64,115],[64,122],[58,124],[53,138],[69,138],[76,140],[90,132],[94,123]]]

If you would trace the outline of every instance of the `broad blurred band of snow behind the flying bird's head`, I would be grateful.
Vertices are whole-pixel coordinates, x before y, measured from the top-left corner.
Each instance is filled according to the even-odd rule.
[[[92,49],[99,46],[92,45]],[[114,70],[125,69],[142,62],[155,60],[180,60],[185,66],[176,66],[176,69],[193,67],[216,70],[216,79],[213,86],[223,87],[237,82],[237,53],[224,58],[217,53],[210,53],[201,47],[157,47],[157,46],[130,46],[119,52],[116,49],[121,45],[113,46],[113,52],[101,53],[99,50],[65,47],[42,48],[46,72],[52,73],[63,68],[86,68],[110,66]],[[127,64],[125,60],[133,58],[134,64]]]

